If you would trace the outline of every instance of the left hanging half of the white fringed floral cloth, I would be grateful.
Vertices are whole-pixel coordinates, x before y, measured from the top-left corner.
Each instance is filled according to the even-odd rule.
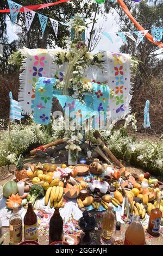
[[[20,74],[18,101],[24,112],[30,114],[34,109],[35,85],[39,77],[54,77],[54,50],[23,48],[23,72]]]

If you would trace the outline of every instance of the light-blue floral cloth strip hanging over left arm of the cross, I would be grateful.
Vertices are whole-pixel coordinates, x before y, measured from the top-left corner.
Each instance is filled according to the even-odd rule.
[[[35,88],[34,122],[48,125],[51,122],[53,86],[55,78],[39,77]]]

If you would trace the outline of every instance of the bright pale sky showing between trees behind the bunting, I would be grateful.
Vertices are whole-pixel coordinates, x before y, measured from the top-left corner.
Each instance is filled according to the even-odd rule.
[[[118,25],[116,22],[116,19],[118,19],[117,14],[111,15],[108,14],[107,20],[105,20],[101,15],[97,16],[97,27],[103,25],[102,32],[118,32]],[[9,36],[9,42],[16,40],[17,35],[16,31],[18,29],[18,26],[12,25],[11,21],[9,18],[7,19],[7,34]],[[86,32],[89,33],[90,29]],[[110,51],[110,52],[118,52],[120,46],[122,45],[122,39],[116,36],[115,34],[111,33],[112,36],[113,44],[107,39],[104,35],[102,35],[101,41],[95,48],[93,52],[98,52],[98,51]]]

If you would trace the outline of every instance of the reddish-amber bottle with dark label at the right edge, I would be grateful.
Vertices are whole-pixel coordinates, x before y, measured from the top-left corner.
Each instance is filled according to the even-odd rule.
[[[162,211],[160,210],[161,199],[158,197],[155,208],[151,210],[147,231],[153,236],[159,236]]]

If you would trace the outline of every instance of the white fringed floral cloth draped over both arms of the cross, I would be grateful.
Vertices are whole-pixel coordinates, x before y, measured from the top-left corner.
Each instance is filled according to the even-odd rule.
[[[33,84],[39,77],[54,77],[63,80],[66,64],[58,66],[53,60],[57,50],[29,50],[24,48],[23,55],[26,57],[23,63],[23,72],[20,75],[20,93],[18,100],[21,107],[27,114],[34,108],[35,92]],[[104,63],[101,69],[97,66],[90,66],[85,71],[84,80],[87,82],[107,84],[113,90],[116,97],[109,100],[111,119],[122,118],[130,112],[129,102],[131,100],[130,66],[131,58],[128,54],[105,52]]]

